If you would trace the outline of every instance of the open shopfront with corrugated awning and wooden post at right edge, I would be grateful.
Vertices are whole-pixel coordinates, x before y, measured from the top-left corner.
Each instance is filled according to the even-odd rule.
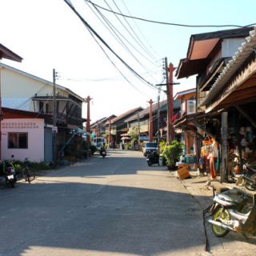
[[[222,70],[210,89],[206,114],[222,112],[222,180],[242,173],[242,165],[256,165],[256,28]]]

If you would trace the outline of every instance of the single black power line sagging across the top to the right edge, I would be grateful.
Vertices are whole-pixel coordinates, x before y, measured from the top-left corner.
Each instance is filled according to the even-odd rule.
[[[252,24],[249,24],[249,25],[246,25],[246,26],[239,26],[239,25],[187,25],[187,24],[174,23],[174,22],[159,22],[159,21],[154,21],[154,20],[150,20],[150,19],[147,19],[147,18],[139,18],[139,17],[134,17],[134,16],[126,15],[126,14],[120,14],[116,11],[106,9],[103,6],[99,6],[96,3],[91,2],[90,0],[85,0],[85,1],[90,2],[92,5],[97,6],[98,8],[100,8],[102,10],[106,10],[106,11],[108,11],[110,13],[113,13],[113,14],[117,14],[117,15],[120,15],[120,16],[123,16],[123,17],[126,17],[126,18],[138,19],[142,22],[151,22],[151,23],[157,23],[157,24],[162,24],[162,25],[184,26],[184,27],[227,27],[227,26],[229,26],[229,27],[240,27],[240,28],[256,25],[256,23],[252,23]]]

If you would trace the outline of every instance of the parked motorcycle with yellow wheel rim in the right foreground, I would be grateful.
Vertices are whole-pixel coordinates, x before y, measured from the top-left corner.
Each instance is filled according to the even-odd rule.
[[[218,238],[230,231],[246,238],[256,236],[256,194],[246,194],[236,188],[216,194],[210,213],[212,218],[208,222]]]

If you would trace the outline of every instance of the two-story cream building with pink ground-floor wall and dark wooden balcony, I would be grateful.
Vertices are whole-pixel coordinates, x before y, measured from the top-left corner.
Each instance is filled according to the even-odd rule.
[[[56,129],[53,126],[53,82],[3,63],[0,68],[2,106],[9,109],[2,121],[2,158],[8,159],[14,154],[20,160],[28,157],[30,161],[52,161],[53,129]],[[56,85],[55,100],[57,157],[69,152],[79,154],[82,151],[82,123],[85,122],[82,103],[85,100],[59,85]]]

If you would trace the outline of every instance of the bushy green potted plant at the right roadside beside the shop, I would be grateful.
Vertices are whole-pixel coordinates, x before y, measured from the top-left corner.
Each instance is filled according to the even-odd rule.
[[[166,165],[168,170],[176,169],[176,162],[182,155],[183,144],[177,141],[172,141],[170,145],[166,146],[162,156],[166,158]]]

